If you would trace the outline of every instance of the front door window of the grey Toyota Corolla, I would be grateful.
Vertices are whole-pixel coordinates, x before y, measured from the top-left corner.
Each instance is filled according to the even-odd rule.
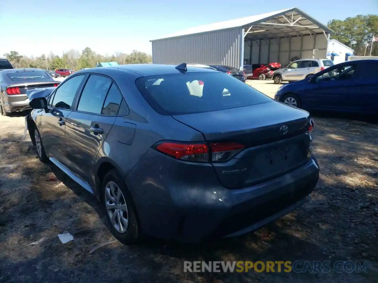
[[[56,108],[72,109],[71,106],[77,89],[79,89],[84,77],[85,75],[77,75],[60,83],[59,88],[57,88],[55,91],[55,96],[51,106]]]

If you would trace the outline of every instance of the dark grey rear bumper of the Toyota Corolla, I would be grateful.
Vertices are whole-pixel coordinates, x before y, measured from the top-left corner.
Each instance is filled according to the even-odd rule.
[[[319,179],[313,157],[301,168],[265,183],[226,189],[211,165],[198,173],[197,165],[151,151],[125,180],[142,231],[166,240],[197,243],[253,231],[308,201]]]

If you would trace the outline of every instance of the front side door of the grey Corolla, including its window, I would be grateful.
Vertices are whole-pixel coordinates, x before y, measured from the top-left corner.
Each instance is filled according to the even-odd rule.
[[[74,97],[84,82],[85,75],[77,75],[62,82],[50,96],[47,110],[41,110],[42,143],[48,157],[54,157],[68,167],[65,125],[72,111]]]

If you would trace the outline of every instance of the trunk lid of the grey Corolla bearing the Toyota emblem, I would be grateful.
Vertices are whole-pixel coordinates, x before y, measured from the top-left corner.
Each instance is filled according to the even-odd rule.
[[[207,141],[235,141],[245,146],[231,160],[212,163],[226,188],[245,188],[276,178],[309,158],[309,114],[282,103],[172,117],[200,131]],[[287,126],[285,134],[283,126]]]

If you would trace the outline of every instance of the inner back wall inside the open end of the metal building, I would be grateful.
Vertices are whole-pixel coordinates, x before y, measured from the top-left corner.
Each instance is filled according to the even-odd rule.
[[[314,49],[318,50],[314,52]],[[299,58],[312,58],[313,52],[315,58],[326,57],[327,38],[324,34],[253,40],[244,44],[246,64],[279,62],[282,66],[286,66],[290,63],[290,59],[296,56]]]

